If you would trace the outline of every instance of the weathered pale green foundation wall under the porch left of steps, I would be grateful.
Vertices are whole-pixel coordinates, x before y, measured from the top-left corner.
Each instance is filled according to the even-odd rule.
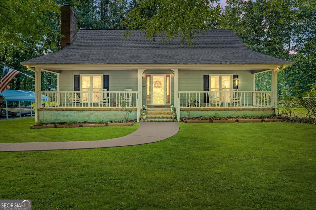
[[[136,119],[136,111],[132,111],[129,119]],[[40,123],[51,122],[106,122],[110,120],[123,120],[120,111],[38,111]]]

